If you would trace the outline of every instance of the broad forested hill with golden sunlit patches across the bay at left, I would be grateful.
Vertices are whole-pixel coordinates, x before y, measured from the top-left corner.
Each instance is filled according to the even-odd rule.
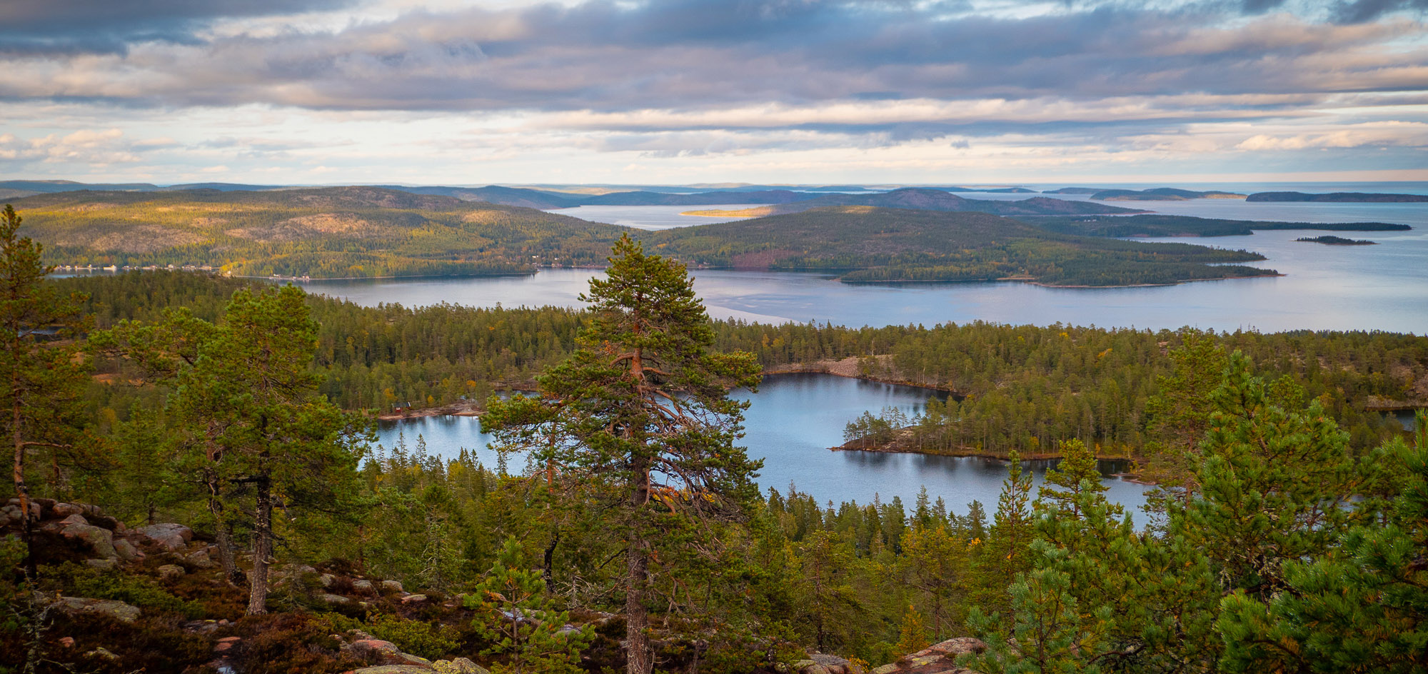
[[[56,264],[193,264],[240,276],[528,273],[604,263],[624,227],[378,187],[66,191],[14,201]]]

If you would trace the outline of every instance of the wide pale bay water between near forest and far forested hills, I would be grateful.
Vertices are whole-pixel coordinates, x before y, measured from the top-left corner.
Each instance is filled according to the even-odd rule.
[[[1352,204],[1351,204],[1352,206]],[[1401,204],[1362,204],[1401,206]],[[1428,214],[1428,204],[1419,207]],[[1402,220],[1402,218],[1401,218]],[[827,274],[693,270],[715,318],[843,326],[970,323],[1212,330],[1388,330],[1428,334],[1428,217],[1411,231],[1341,233],[1378,246],[1322,246],[1308,231],[1197,238],[1262,253],[1282,277],[1125,288],[1047,288],[1025,283],[847,284]],[[1171,238],[1167,238],[1167,241]],[[1174,238],[1185,241],[1185,238]],[[533,276],[311,281],[313,293],[358,304],[441,301],[477,307],[578,306],[594,270]]]

